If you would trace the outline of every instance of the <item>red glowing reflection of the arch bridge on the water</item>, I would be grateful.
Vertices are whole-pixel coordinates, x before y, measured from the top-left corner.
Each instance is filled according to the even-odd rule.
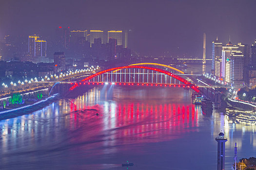
[[[95,121],[92,123],[99,125],[95,133],[102,133],[105,130],[112,131],[111,138],[120,140],[116,142],[121,143],[172,140],[193,130],[188,127],[198,126],[198,110],[193,104],[163,103],[151,105],[143,102],[136,104],[129,102],[114,104],[113,107],[115,108],[111,104],[108,106],[101,105],[101,107],[103,108],[102,116],[95,117],[97,119],[90,119],[90,121]],[[85,108],[90,108],[90,106],[85,106]],[[73,110],[75,122],[89,121],[90,116],[77,116],[77,113],[74,112],[76,111],[75,103],[70,104],[70,109]],[[134,114],[136,114],[135,118],[133,117]]]

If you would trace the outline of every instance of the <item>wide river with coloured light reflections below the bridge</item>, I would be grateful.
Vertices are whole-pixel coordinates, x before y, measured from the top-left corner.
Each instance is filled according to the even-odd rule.
[[[130,170],[216,170],[221,130],[228,138],[226,170],[235,142],[238,159],[255,156],[255,125],[238,124],[217,110],[203,115],[191,93],[103,86],[1,120],[0,169],[124,170],[128,160],[135,164]]]

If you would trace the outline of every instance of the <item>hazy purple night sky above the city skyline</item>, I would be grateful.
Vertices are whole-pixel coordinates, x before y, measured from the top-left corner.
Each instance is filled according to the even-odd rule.
[[[0,0],[0,37],[41,34],[59,26],[77,29],[132,29],[141,55],[207,58],[218,36],[223,43],[252,44],[256,38],[256,0]],[[46,39],[47,40],[47,39]]]

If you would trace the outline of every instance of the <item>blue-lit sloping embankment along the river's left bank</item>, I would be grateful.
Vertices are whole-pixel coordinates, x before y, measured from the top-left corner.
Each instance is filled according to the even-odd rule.
[[[33,104],[25,105],[25,106],[18,107],[15,109],[1,111],[0,112],[0,120],[15,118],[15,117],[18,117],[21,115],[35,112],[35,111],[45,107],[46,105],[56,101],[57,99],[59,99],[59,94],[54,94],[50,97],[47,97],[47,98],[45,98],[39,102],[35,102]]]

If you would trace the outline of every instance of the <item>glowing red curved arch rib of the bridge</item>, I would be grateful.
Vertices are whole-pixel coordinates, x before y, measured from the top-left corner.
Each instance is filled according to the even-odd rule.
[[[109,72],[109,71],[114,71],[114,70],[118,70],[118,69],[126,69],[126,68],[142,68],[142,69],[148,69],[148,70],[157,71],[157,72],[163,73],[163,74],[165,74],[167,76],[173,77],[173,78],[177,79],[178,81],[184,83],[185,85],[191,85],[190,87],[193,90],[195,90],[197,93],[200,92],[200,90],[196,86],[192,85],[190,82],[188,82],[187,80],[183,79],[182,77],[177,76],[174,73],[171,73],[171,72],[166,71],[166,70],[162,70],[160,68],[153,68],[153,67],[146,67],[146,66],[123,66],[123,67],[117,67],[117,68],[109,68],[109,69],[106,69],[106,70],[103,70],[103,71],[99,71],[99,72],[97,72],[97,73],[95,73],[95,74],[93,74],[91,76],[88,76],[85,79],[81,80],[81,82],[89,81],[89,80],[93,79],[94,77],[99,76],[99,75],[104,74],[104,73]],[[79,85],[76,83],[75,85],[73,85],[70,88],[70,90],[73,90],[77,86],[79,86]]]

